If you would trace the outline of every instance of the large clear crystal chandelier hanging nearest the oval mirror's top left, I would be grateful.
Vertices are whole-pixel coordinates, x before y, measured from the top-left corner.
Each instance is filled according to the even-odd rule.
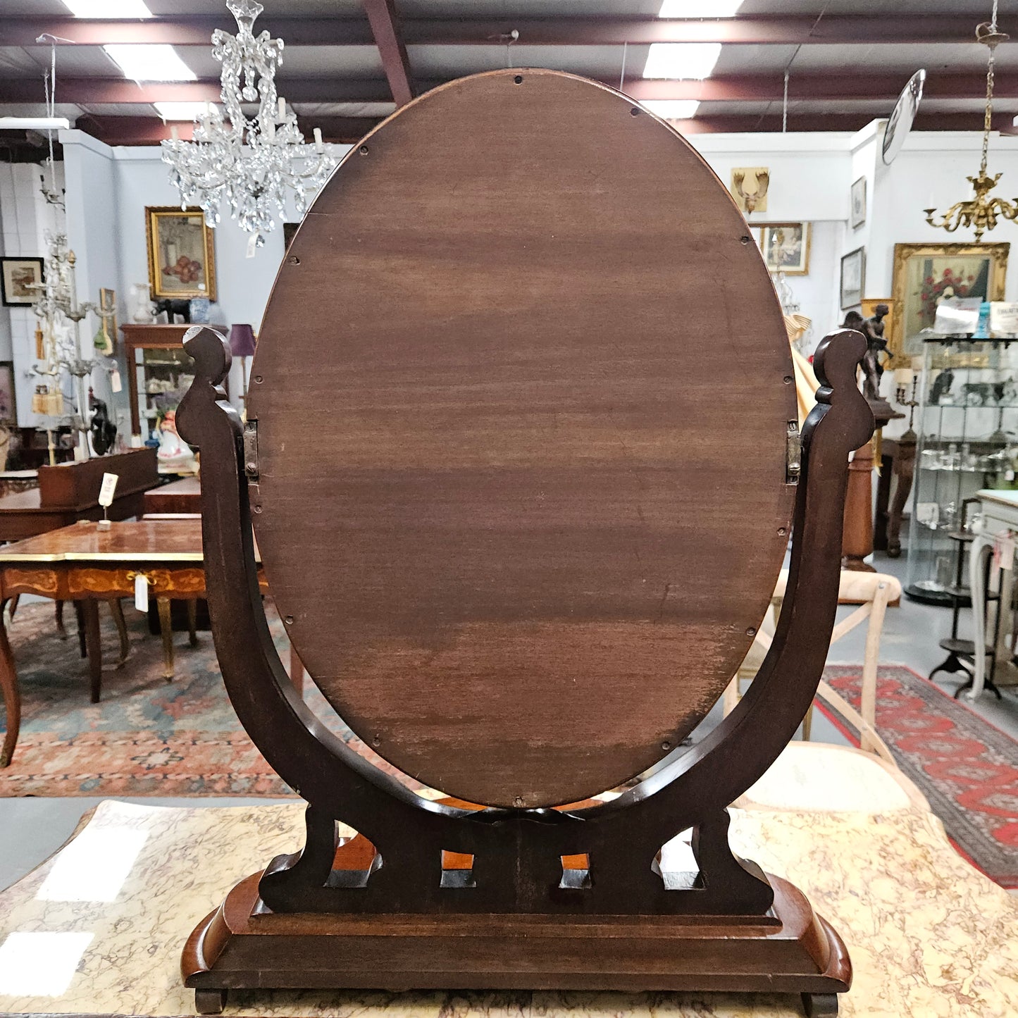
[[[282,62],[283,41],[268,32],[252,34],[262,13],[260,3],[229,0],[238,32],[221,29],[212,34],[212,55],[223,65],[220,75],[224,111],[214,103],[194,120],[192,142],[182,142],[173,128],[163,142],[163,161],[173,168],[170,182],[180,191],[181,207],[199,206],[205,221],[219,225],[223,200],[240,228],[254,236],[254,246],[265,243],[264,233],[276,228],[275,213],[285,216],[287,190],[294,192],[297,215],[303,216],[306,196],[325,183],[336,159],[322,144],[315,128],[314,147],[305,145],[286,101],[276,97],[276,66]],[[241,75],[243,83],[241,84]],[[242,103],[259,103],[248,118]]]

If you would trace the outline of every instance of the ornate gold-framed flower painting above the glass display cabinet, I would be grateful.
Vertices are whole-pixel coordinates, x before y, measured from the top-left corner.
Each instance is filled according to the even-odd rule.
[[[895,244],[892,285],[895,321],[888,344],[894,367],[922,355],[919,334],[931,328],[937,305],[950,297],[1004,299],[1008,243]]]

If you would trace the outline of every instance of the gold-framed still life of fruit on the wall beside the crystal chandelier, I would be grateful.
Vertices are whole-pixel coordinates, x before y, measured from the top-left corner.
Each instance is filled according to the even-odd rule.
[[[216,253],[201,209],[145,210],[149,282],[156,299],[216,299]]]

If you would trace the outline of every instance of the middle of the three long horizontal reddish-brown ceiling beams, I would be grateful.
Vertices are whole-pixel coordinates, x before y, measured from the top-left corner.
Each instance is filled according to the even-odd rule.
[[[853,99],[893,103],[907,80],[904,74],[802,74],[789,79],[788,98],[814,102]],[[421,93],[441,81],[419,82]],[[606,84],[613,83],[606,79]],[[618,83],[617,81],[615,82]],[[392,93],[380,78],[277,78],[279,93],[290,103],[387,103]],[[701,102],[780,102],[780,74],[740,74],[712,77],[704,81],[672,81],[636,78],[627,81],[625,93],[633,99],[698,99]],[[938,74],[926,77],[928,99],[982,99],[985,75]],[[219,102],[219,78],[200,81],[167,81],[136,84],[122,77],[64,77],[57,79],[60,103]],[[998,73],[995,93],[1000,99],[1018,96],[1018,73]],[[42,81],[37,78],[0,78],[0,103],[42,102]]]

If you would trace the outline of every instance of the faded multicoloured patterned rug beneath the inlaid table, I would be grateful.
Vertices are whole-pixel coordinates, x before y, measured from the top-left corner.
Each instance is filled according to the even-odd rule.
[[[212,634],[200,632],[196,647],[186,633],[173,634],[176,674],[167,682],[160,638],[129,602],[123,606],[130,656],[119,669],[116,629],[100,606],[103,694],[96,704],[89,702],[88,662],[69,606],[65,640],[52,604],[19,607],[8,631],[21,685],[21,734],[11,766],[0,770],[0,795],[292,795],[241,728]],[[288,661],[283,625],[267,609]],[[394,773],[342,725],[314,683],[306,685],[312,710],[351,748]]]

